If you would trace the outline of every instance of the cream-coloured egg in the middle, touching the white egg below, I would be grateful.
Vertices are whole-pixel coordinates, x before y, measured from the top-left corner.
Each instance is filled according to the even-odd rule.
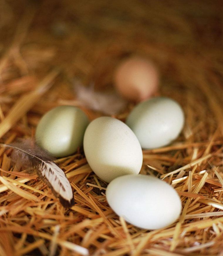
[[[84,151],[91,169],[106,182],[138,174],[142,166],[142,149],[135,134],[112,117],[99,117],[88,125]]]

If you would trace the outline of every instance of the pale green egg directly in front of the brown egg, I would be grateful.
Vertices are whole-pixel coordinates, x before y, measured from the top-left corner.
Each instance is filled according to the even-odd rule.
[[[130,112],[126,124],[133,130],[143,149],[170,144],[184,125],[184,112],[178,102],[155,97],[139,103]]]

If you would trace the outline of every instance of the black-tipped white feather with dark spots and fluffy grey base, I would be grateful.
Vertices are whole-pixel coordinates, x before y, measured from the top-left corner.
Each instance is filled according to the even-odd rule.
[[[53,194],[60,199],[64,207],[74,205],[73,191],[66,174],[53,161],[54,158],[45,150],[40,149],[31,140],[0,146],[13,148],[12,161],[37,171],[37,174],[51,188]]]

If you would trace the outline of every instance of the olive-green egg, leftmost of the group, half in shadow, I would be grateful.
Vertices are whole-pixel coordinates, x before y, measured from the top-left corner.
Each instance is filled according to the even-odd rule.
[[[83,144],[89,120],[85,113],[73,106],[55,107],[40,119],[36,128],[37,144],[53,156],[73,154]]]

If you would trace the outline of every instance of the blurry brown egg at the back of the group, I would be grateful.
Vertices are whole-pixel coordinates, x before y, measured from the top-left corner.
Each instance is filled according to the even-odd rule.
[[[114,85],[126,99],[146,100],[158,90],[158,71],[151,61],[141,57],[124,60],[114,74]]]

